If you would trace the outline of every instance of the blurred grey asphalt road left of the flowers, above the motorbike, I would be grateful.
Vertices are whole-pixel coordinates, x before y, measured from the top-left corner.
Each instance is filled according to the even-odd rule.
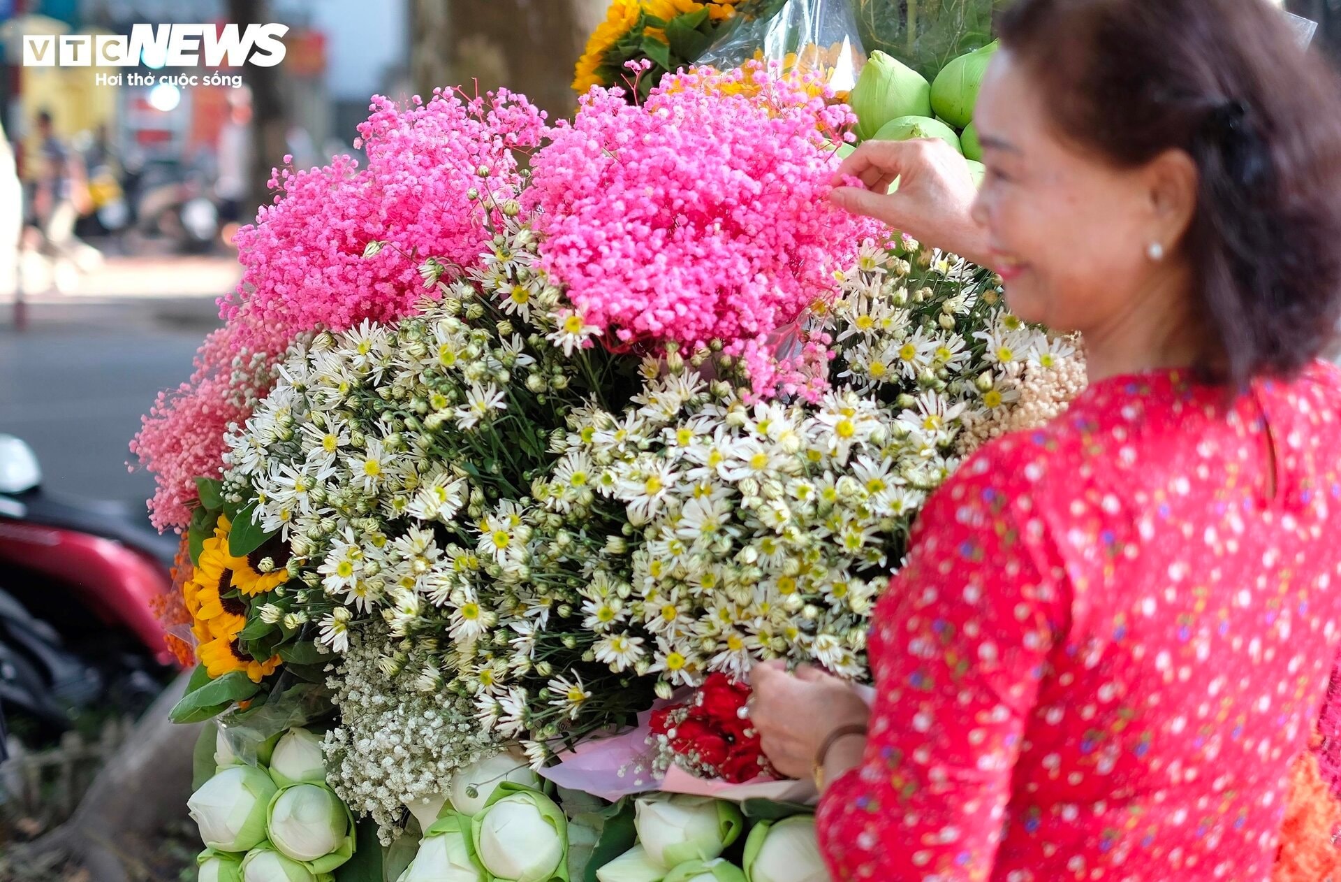
[[[0,432],[32,446],[47,490],[142,505],[153,478],[127,470],[127,444],[158,391],[190,376],[212,310],[209,301],[39,307],[24,332],[0,315]]]

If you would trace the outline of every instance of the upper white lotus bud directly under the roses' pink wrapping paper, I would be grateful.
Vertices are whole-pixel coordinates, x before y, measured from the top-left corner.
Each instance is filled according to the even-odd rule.
[[[719,856],[740,835],[744,818],[709,796],[657,793],[634,801],[633,826],[648,856],[669,870]]]

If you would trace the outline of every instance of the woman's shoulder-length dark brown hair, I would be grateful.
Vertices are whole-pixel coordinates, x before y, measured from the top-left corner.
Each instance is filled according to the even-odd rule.
[[[1058,130],[1122,166],[1196,161],[1183,243],[1207,365],[1290,376],[1341,320],[1341,83],[1266,0],[1019,0],[1002,43]]]

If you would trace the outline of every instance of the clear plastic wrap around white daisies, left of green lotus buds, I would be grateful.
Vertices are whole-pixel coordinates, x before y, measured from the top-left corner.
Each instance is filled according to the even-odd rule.
[[[763,59],[782,63],[787,72],[822,70],[839,98],[857,85],[866,50],[849,0],[758,0],[739,9],[736,24],[700,64],[728,68]]]

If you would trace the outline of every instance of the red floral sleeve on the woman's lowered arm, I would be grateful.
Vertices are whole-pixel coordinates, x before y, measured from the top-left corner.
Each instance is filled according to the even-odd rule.
[[[992,448],[988,448],[992,451]],[[821,847],[834,879],[991,875],[1026,720],[1066,603],[1018,463],[967,463],[921,516],[876,612],[860,758],[834,745]]]

